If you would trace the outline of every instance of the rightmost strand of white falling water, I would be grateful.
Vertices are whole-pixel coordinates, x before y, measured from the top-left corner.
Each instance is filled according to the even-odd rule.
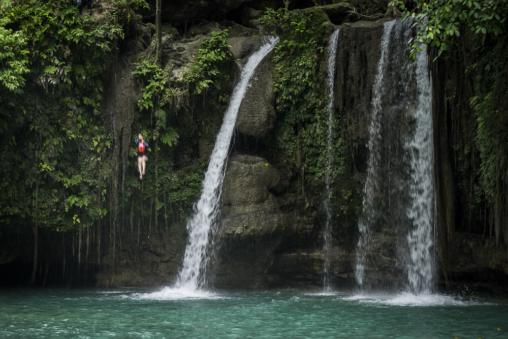
[[[435,258],[434,147],[432,143],[432,96],[427,70],[427,45],[417,55],[418,105],[414,111],[416,132],[406,147],[411,152],[411,200],[409,218],[414,229],[407,235],[410,256],[406,260],[408,289],[428,293],[432,289]]]

